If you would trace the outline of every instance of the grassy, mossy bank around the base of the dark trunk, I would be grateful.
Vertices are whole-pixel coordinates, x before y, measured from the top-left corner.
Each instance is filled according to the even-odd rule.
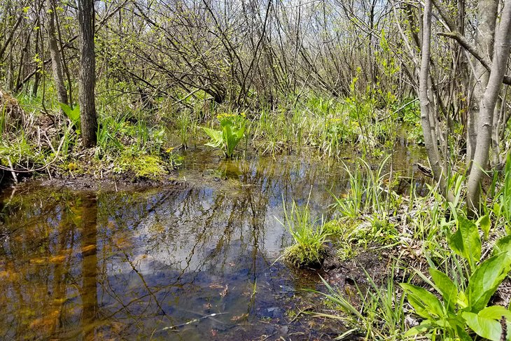
[[[97,146],[84,150],[76,116],[62,115],[50,90],[45,98],[28,95],[18,98],[27,118],[16,134],[1,132],[3,167],[10,168],[10,162],[14,169],[27,174],[127,173],[157,179],[180,164],[179,155],[165,146],[167,132],[158,116],[131,108],[125,97],[107,96],[103,92],[97,98]],[[2,127],[6,124],[3,122]]]

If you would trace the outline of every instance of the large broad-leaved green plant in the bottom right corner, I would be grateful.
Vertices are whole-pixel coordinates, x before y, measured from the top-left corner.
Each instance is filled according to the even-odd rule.
[[[489,218],[478,221],[485,236],[489,232]],[[429,273],[433,281],[421,277],[430,284],[441,299],[426,288],[403,283],[408,302],[423,321],[408,330],[407,335],[437,335],[444,340],[472,340],[470,330],[492,341],[500,341],[501,319],[511,321],[509,309],[500,305],[488,306],[489,300],[511,270],[511,236],[499,239],[490,258],[482,261],[482,241],[477,225],[462,216],[458,217],[458,230],[449,239],[449,247],[468,263],[464,277],[453,281],[448,273],[433,267]],[[511,330],[507,323],[507,329]],[[470,328],[468,330],[467,328]],[[468,331],[467,331],[468,330]],[[506,340],[510,340],[508,336]]]

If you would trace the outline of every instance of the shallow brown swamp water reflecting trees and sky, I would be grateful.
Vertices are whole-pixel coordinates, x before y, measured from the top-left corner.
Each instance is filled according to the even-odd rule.
[[[393,155],[411,176],[420,151]],[[309,340],[317,274],[279,260],[283,202],[327,214],[346,190],[340,162],[185,155],[186,186],[76,192],[25,184],[0,195],[2,340]],[[349,161],[347,161],[349,162]]]

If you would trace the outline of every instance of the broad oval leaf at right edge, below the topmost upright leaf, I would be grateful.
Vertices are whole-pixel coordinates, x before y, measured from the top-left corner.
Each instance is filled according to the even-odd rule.
[[[491,296],[507,276],[511,258],[507,253],[484,260],[468,280],[466,290],[468,306],[471,312],[479,312],[488,304]]]

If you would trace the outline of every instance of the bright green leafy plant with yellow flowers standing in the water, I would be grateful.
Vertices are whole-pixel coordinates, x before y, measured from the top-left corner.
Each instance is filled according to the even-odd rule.
[[[206,146],[221,148],[226,158],[232,158],[236,146],[245,136],[246,118],[244,114],[235,115],[223,113],[217,116],[220,120],[221,130],[214,130],[202,127],[202,130],[209,136]]]

